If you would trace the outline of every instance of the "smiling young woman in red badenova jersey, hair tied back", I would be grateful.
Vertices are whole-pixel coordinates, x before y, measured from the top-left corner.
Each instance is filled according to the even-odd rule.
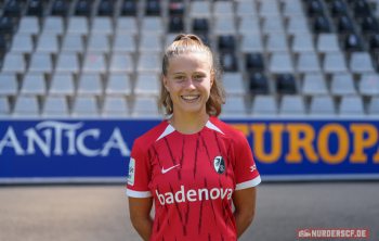
[[[225,91],[211,51],[197,36],[179,35],[161,80],[159,105],[171,117],[134,141],[131,221],[146,241],[237,240],[253,219],[261,178],[246,137],[217,118]]]

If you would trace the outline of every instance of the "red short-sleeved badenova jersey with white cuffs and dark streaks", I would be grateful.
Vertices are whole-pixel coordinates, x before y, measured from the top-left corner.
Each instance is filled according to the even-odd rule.
[[[261,182],[241,131],[210,117],[183,135],[164,120],[134,141],[127,186],[133,198],[154,198],[151,240],[237,240],[234,191]]]

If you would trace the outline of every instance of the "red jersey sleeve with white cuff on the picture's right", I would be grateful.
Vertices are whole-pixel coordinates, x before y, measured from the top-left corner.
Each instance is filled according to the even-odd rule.
[[[261,182],[261,177],[252,157],[249,142],[241,132],[236,145],[235,190],[256,187]]]

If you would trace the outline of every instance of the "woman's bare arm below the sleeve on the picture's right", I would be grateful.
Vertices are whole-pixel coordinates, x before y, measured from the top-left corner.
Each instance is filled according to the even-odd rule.
[[[237,224],[239,238],[249,227],[256,214],[257,187],[241,189],[233,193],[235,211],[233,213]]]

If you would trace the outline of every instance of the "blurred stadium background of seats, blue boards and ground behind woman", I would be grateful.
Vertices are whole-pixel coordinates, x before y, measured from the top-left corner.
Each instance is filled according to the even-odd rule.
[[[219,55],[263,183],[241,240],[379,239],[378,0],[1,0],[0,240],[139,240],[126,183],[180,33]]]

